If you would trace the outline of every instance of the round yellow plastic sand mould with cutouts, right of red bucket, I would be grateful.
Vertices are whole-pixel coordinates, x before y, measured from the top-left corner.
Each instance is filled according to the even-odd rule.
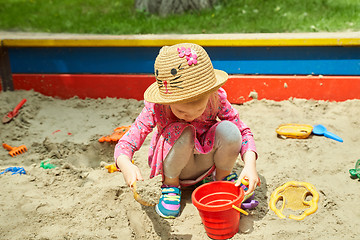
[[[307,201],[306,197],[312,196],[312,199]],[[282,200],[281,209],[276,208],[276,204]],[[290,214],[289,218],[294,220],[303,220],[306,216],[313,214],[318,209],[317,203],[319,201],[319,194],[315,187],[307,182],[287,182],[281,187],[275,189],[271,194],[269,206],[276,215],[280,218],[286,218],[282,211],[287,208],[293,211],[304,210],[301,215]]]

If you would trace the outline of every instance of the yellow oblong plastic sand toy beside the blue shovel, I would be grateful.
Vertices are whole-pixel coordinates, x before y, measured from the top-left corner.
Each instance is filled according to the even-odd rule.
[[[275,131],[277,134],[287,138],[307,138],[311,134],[313,127],[307,124],[281,124]]]

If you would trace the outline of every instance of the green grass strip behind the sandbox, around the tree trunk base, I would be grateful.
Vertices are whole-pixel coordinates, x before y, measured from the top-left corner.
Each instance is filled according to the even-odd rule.
[[[212,10],[159,17],[133,0],[0,0],[0,30],[98,34],[360,30],[359,0],[220,0]]]

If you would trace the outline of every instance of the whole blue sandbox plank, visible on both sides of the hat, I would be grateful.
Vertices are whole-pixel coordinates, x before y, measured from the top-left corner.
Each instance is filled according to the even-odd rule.
[[[13,73],[154,72],[158,47],[10,48]],[[360,75],[360,47],[206,47],[229,74]]]

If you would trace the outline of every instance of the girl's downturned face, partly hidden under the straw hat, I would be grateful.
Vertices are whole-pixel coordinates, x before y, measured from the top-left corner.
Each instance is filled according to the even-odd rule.
[[[206,95],[192,102],[170,104],[170,109],[177,118],[192,122],[204,113],[208,101],[209,95]]]

